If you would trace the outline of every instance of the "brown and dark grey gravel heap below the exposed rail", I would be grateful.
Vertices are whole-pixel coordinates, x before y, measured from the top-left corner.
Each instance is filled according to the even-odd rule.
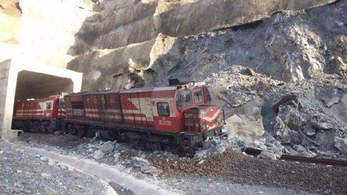
[[[199,175],[224,178],[231,183],[319,194],[347,194],[347,168],[340,166],[252,158],[232,149],[200,159],[151,158],[150,161],[166,176]]]

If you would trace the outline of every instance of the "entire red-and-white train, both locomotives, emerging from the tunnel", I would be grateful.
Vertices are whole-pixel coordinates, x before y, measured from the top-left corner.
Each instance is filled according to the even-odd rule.
[[[220,107],[205,83],[169,79],[168,87],[80,92],[18,101],[15,128],[41,127],[79,136],[100,135],[135,147],[193,156],[196,147],[221,135]],[[40,122],[44,125],[38,125]],[[51,123],[51,128],[47,124]],[[41,129],[42,129],[41,128]]]

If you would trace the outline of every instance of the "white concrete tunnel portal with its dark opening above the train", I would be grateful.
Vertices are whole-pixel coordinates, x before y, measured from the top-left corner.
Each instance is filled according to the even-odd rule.
[[[12,130],[15,102],[28,98],[45,98],[59,93],[79,92],[82,73],[45,65],[28,59],[0,62],[0,137],[16,137]]]

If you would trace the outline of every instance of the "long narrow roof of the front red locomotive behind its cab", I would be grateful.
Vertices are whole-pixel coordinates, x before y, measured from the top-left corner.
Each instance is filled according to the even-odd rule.
[[[104,90],[104,91],[92,91],[92,92],[78,92],[69,94],[68,96],[77,95],[100,95],[100,94],[128,94],[128,93],[141,93],[141,92],[154,92],[154,91],[169,91],[176,90],[177,86],[170,87],[143,87],[143,88],[132,88],[132,89],[121,89],[121,90]]]

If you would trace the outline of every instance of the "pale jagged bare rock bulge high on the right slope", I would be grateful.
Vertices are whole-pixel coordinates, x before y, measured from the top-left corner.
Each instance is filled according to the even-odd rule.
[[[323,44],[320,36],[302,24],[281,25],[287,17],[277,19],[268,30],[267,49],[282,66],[283,80],[297,82],[321,74],[325,59],[318,50]]]

